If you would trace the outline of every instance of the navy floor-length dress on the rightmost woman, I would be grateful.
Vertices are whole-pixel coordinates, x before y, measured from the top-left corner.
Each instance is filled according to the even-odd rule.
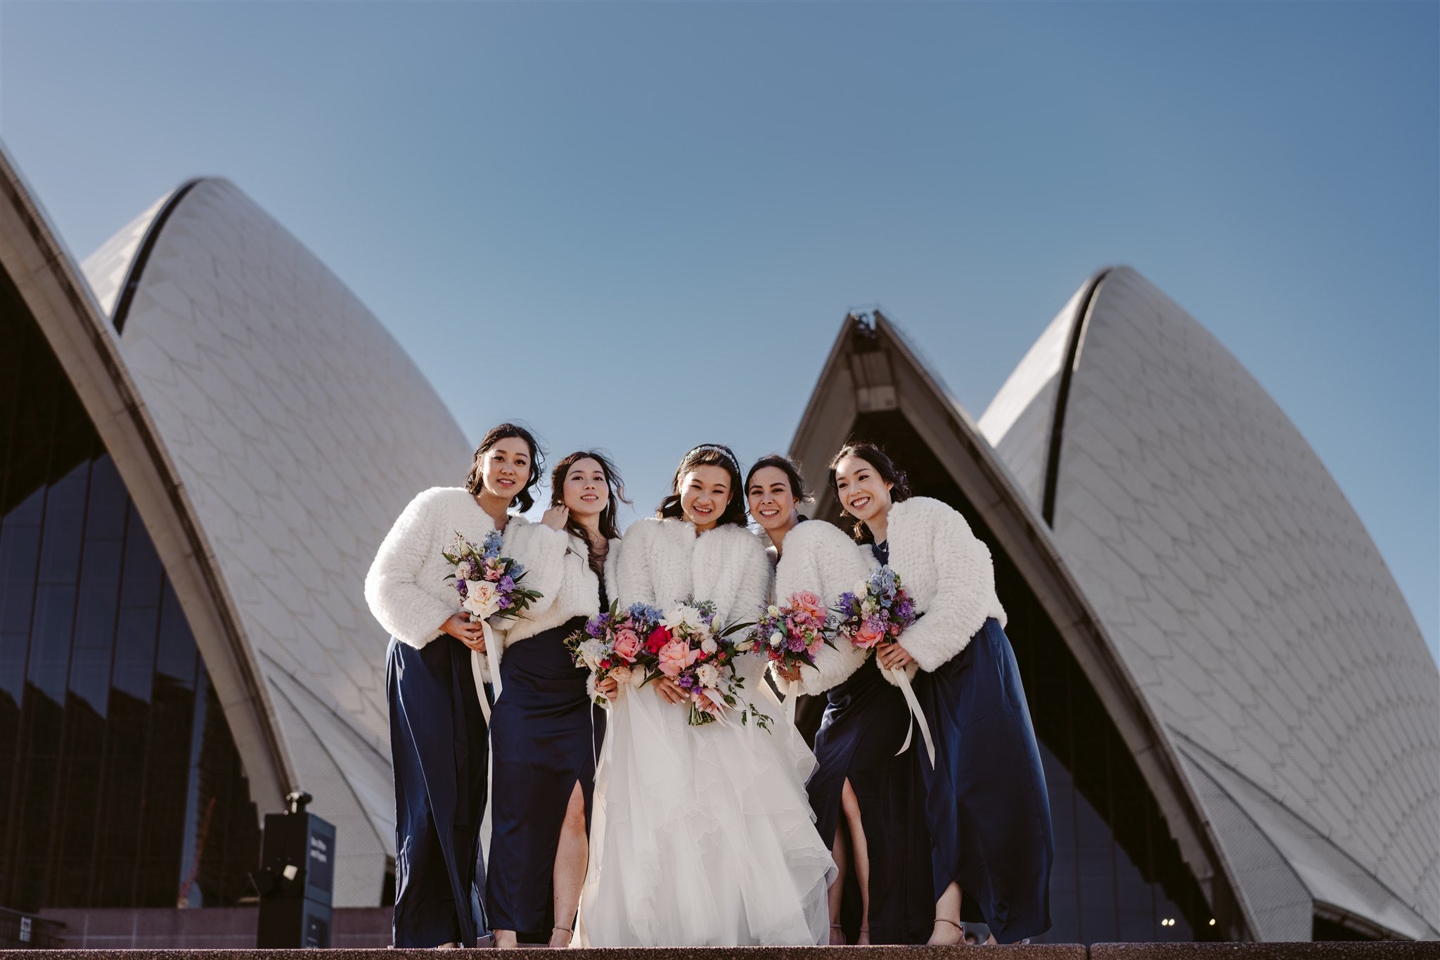
[[[900,636],[904,645],[904,636]],[[999,943],[1050,930],[1050,797],[1009,638],[994,617],[935,672],[916,675],[935,738],[922,754],[935,895],[959,882]],[[965,910],[965,914],[971,914]]]

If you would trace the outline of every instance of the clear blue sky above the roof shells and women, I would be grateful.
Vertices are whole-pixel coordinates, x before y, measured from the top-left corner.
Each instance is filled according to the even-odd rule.
[[[644,512],[693,443],[785,449],[848,307],[978,417],[1129,263],[1295,420],[1436,649],[1437,37],[1430,3],[4,3],[0,137],[78,256],[232,178],[472,439],[608,446]]]

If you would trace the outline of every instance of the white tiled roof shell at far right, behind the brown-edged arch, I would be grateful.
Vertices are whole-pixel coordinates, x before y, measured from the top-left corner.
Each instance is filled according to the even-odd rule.
[[[1056,344],[1077,307],[979,423],[1037,507],[1064,363]],[[1083,334],[1054,538],[1176,750],[1212,786],[1230,782],[1310,895],[1434,937],[1436,664],[1300,433],[1200,322],[1128,268],[1104,276]],[[1233,871],[1254,862],[1238,833],[1220,841]],[[1238,872],[1253,913],[1269,911],[1274,938],[1289,938],[1297,920],[1280,914],[1293,892]]]

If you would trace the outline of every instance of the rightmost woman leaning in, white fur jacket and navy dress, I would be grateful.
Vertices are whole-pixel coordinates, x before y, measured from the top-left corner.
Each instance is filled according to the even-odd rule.
[[[874,445],[845,445],[829,479],[860,521],[857,540],[874,544],[922,613],[876,659],[914,678],[935,744],[932,761],[923,738],[913,741],[933,843],[930,943],[963,941],[962,905],[976,908],[999,943],[1043,934],[1054,861],[1050,799],[989,548],[949,505],[907,498],[904,474]]]

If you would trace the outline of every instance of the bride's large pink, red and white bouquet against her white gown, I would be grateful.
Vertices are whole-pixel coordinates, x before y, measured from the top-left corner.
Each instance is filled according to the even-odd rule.
[[[675,681],[690,695],[691,727],[724,721],[727,711],[739,708],[742,724],[753,720],[769,730],[770,718],[740,697],[744,678],[734,669],[736,658],[755,646],[755,640],[740,635],[753,623],[716,626],[714,619],[714,603],[694,597],[668,610],[645,638],[645,649],[655,656],[654,672],[645,682],[658,675]]]

